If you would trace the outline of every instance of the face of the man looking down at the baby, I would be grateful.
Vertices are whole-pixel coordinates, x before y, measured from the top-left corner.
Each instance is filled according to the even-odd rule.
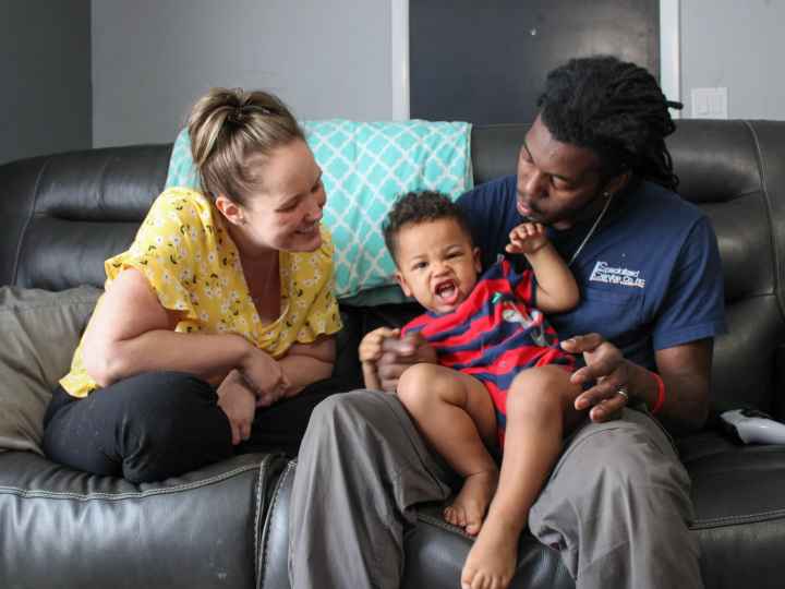
[[[567,229],[593,207],[603,188],[593,152],[556,141],[538,116],[518,155],[518,212]]]

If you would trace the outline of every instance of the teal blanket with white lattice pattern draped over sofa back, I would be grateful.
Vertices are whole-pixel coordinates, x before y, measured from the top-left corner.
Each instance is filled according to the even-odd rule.
[[[382,223],[404,192],[437,190],[457,199],[472,188],[471,124],[333,119],[301,125],[327,191],[336,296],[353,304],[406,301],[395,286]],[[166,185],[200,185],[186,130],[174,142]]]

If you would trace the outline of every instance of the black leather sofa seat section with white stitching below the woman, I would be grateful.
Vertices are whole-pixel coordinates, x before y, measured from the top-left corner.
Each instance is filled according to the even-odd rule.
[[[0,587],[255,587],[285,465],[247,454],[135,485],[0,454]]]

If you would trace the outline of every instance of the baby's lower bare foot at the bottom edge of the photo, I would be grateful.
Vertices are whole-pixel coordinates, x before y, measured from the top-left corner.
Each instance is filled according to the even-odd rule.
[[[490,518],[463,564],[461,589],[506,589],[515,574],[519,536],[519,527]]]

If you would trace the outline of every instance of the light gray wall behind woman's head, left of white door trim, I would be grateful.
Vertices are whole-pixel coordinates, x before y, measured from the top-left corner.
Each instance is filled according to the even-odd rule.
[[[390,119],[389,0],[93,2],[96,147],[170,142],[210,86],[300,119]]]

